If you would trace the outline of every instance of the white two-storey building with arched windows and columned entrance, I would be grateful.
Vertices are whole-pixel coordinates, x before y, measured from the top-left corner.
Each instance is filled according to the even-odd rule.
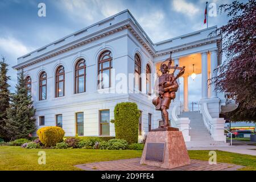
[[[142,111],[142,139],[149,127],[159,126],[160,111],[155,111],[148,95],[160,63],[172,51],[173,64],[186,68],[184,103],[180,102],[178,90],[169,109],[171,125],[179,127],[188,146],[203,145],[202,140],[210,145],[225,143],[225,120],[218,118],[225,99],[213,86],[208,89],[207,81],[216,75],[213,70],[221,64],[221,36],[208,36],[216,28],[152,43],[133,15],[125,10],[19,57],[13,68],[26,73],[38,127],[61,126],[66,136],[114,136],[114,124],[109,122],[114,119],[114,107],[118,102],[129,101],[136,102]],[[195,73],[202,74],[201,114],[182,113],[188,111],[188,76],[193,73],[193,64],[197,68]],[[139,81],[137,76],[148,72],[152,74]],[[109,79],[103,75],[105,79],[98,81],[101,73],[109,75]],[[129,73],[135,73],[135,78],[129,78]],[[120,79],[125,79],[126,84],[123,92],[117,93]]]

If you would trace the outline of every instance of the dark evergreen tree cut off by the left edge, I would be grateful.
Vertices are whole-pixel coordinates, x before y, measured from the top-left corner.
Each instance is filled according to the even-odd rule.
[[[10,76],[7,76],[8,64],[5,62],[5,57],[0,61],[0,138],[7,139],[6,121],[7,108],[10,101],[10,85],[7,83]]]

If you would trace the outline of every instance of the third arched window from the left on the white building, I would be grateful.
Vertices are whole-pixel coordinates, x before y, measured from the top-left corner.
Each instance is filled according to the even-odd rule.
[[[55,97],[62,97],[65,94],[65,69],[60,66],[55,75]]]

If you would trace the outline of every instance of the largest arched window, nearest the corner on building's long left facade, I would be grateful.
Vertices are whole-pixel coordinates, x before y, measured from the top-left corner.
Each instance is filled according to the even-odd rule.
[[[104,51],[98,59],[98,89],[104,89],[111,86],[110,71],[112,68],[112,52]]]

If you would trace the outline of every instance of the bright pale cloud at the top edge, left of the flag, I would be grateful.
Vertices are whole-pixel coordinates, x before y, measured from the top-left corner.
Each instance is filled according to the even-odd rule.
[[[199,12],[199,9],[191,2],[185,0],[174,0],[172,1],[172,9],[178,13],[190,16],[195,15]]]

